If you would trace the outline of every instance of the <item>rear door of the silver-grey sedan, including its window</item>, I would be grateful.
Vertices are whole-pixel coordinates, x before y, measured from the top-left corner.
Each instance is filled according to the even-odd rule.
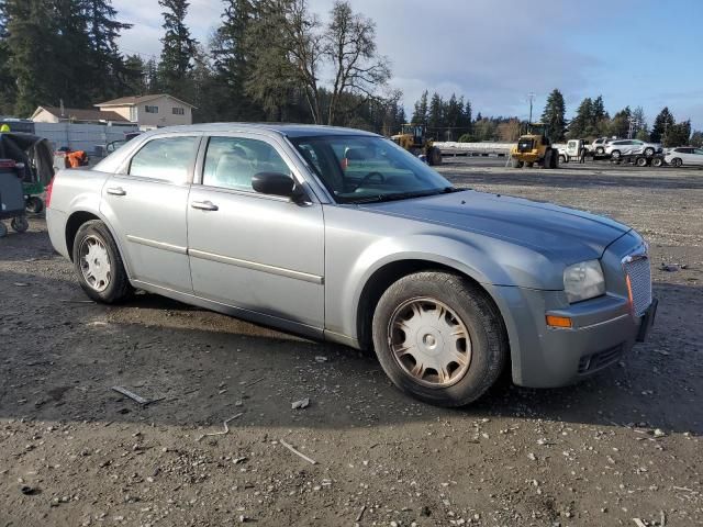
[[[155,136],[102,189],[133,280],[191,292],[186,211],[199,134]]]

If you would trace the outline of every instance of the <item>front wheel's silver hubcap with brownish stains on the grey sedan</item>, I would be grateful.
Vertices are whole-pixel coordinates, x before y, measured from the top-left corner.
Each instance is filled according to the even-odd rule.
[[[469,332],[457,314],[437,300],[403,302],[391,316],[388,334],[394,359],[421,384],[455,384],[471,363]]]

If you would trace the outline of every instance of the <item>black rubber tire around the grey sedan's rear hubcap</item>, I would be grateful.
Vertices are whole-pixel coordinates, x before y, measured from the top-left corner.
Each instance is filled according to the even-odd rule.
[[[102,291],[97,291],[93,289],[87,281],[83,276],[83,271],[81,270],[81,247],[83,242],[89,238],[98,238],[104,245],[107,249],[110,268],[111,268],[111,277],[107,288]],[[96,302],[101,302],[104,304],[115,304],[127,299],[132,292],[133,288],[130,284],[130,279],[127,278],[127,273],[124,269],[124,264],[122,261],[122,256],[120,255],[120,250],[118,249],[118,244],[115,244],[108,226],[102,223],[100,220],[91,220],[90,222],[83,223],[78,233],[76,233],[76,238],[74,239],[74,267],[76,268],[76,273],[78,274],[78,282],[80,287],[86,292],[88,296],[90,296]]]

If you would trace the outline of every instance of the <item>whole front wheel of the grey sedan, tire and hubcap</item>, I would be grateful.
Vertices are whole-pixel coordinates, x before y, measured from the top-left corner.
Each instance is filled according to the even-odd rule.
[[[476,401],[500,377],[507,357],[492,300],[446,272],[417,272],[393,283],[378,302],[372,335],[391,381],[442,406]]]

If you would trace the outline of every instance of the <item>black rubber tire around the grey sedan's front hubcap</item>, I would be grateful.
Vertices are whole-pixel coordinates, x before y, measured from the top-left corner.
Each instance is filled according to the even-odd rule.
[[[399,306],[427,298],[454,311],[470,338],[468,369],[450,385],[421,383],[405,371],[391,349],[389,326]],[[507,338],[498,307],[480,287],[447,272],[409,274],[388,288],[373,313],[372,335],[376,355],[391,381],[406,393],[439,406],[464,406],[476,401],[499,379],[507,360]]]

